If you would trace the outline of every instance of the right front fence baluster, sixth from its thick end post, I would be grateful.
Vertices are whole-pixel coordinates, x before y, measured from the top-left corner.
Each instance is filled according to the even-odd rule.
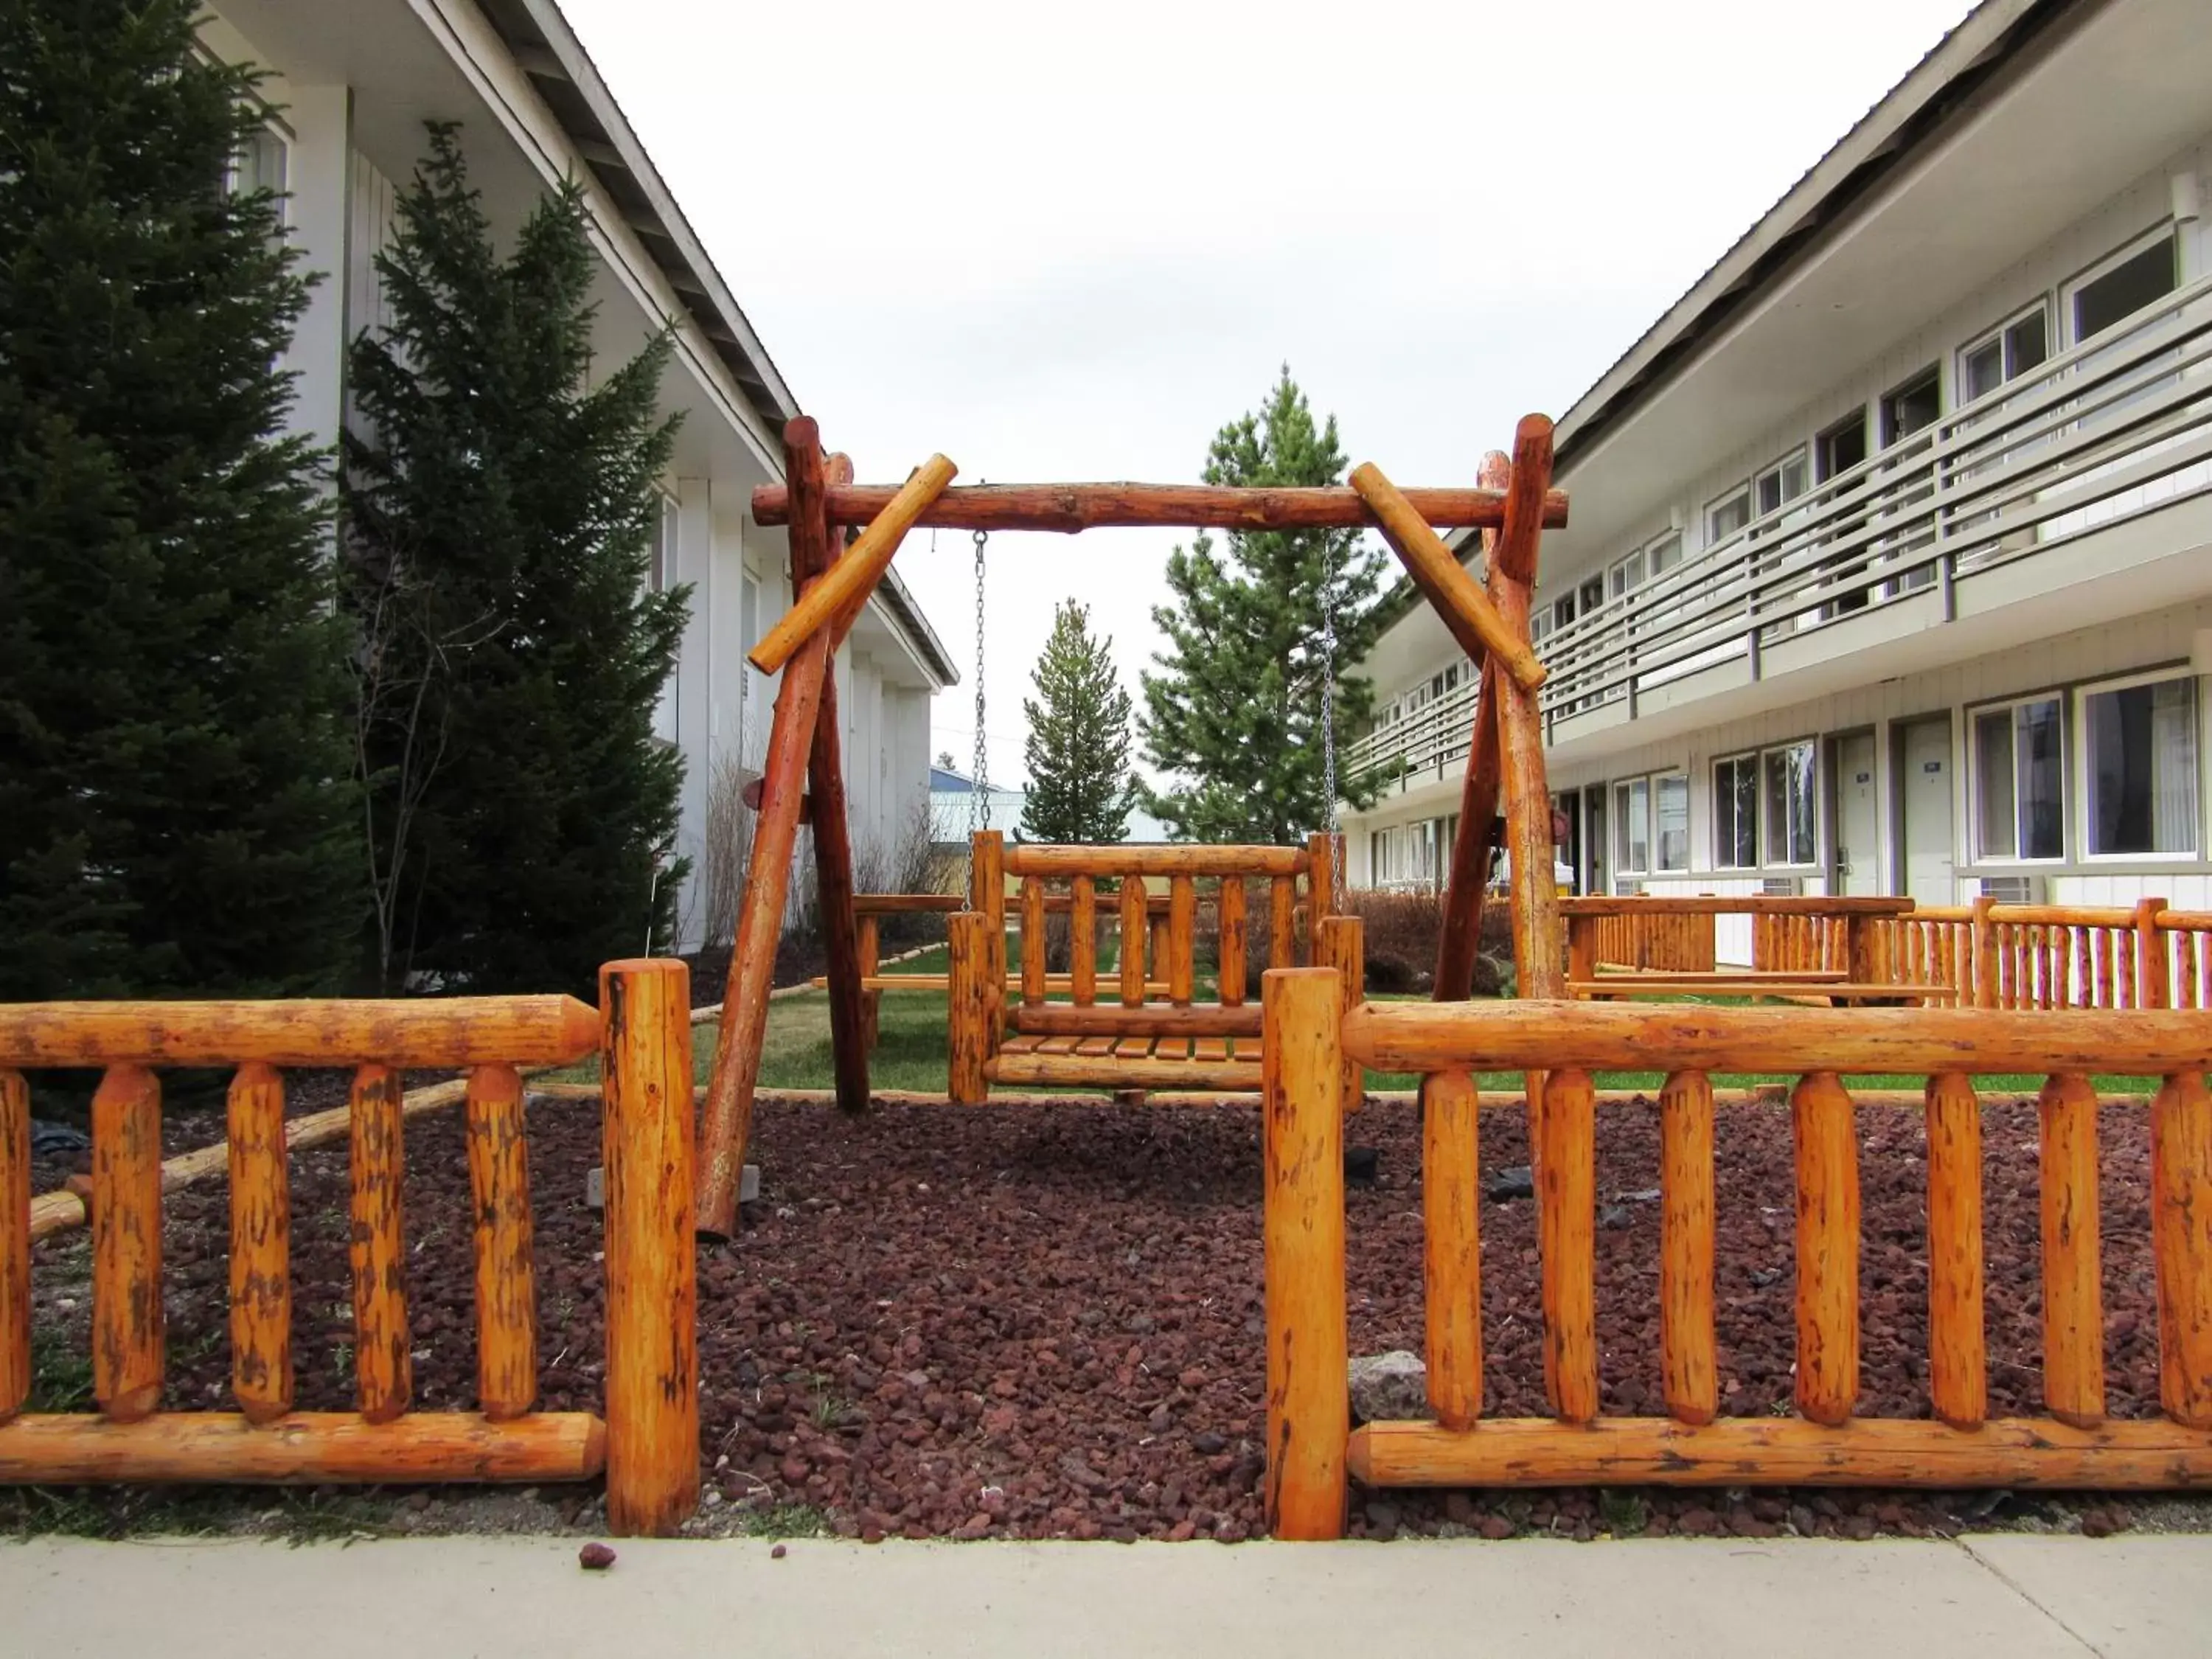
[[[2042,1119],[2044,1409],[2086,1429],[2104,1422],[2104,1259],[2097,1241],[2097,1091],[2055,1073]]]

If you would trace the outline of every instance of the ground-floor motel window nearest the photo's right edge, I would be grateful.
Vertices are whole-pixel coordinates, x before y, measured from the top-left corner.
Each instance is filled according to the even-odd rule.
[[[2148,679],[2079,695],[2093,858],[2197,854],[2197,681]]]

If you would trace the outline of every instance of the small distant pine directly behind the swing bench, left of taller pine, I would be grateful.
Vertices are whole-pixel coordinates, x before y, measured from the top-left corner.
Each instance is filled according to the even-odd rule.
[[[1113,845],[1128,836],[1128,692],[1113,668],[1113,639],[1091,637],[1091,608],[1062,602],[1031,672],[1037,697],[1022,699],[1029,739],[1029,799],[1022,836]]]

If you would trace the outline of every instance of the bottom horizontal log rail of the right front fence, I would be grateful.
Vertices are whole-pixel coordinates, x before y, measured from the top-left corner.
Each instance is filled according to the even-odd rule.
[[[1951,1429],[1916,1418],[1484,1418],[1464,1433],[1429,1422],[1354,1431],[1352,1473],[1369,1486],[2212,1486],[2212,1438],[2172,1422],[2070,1429],[2000,1418]]]

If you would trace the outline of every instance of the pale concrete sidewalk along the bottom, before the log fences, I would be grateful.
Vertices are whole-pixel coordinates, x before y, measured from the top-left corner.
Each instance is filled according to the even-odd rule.
[[[2212,1652],[2212,1537],[0,1544],[0,1659]]]

